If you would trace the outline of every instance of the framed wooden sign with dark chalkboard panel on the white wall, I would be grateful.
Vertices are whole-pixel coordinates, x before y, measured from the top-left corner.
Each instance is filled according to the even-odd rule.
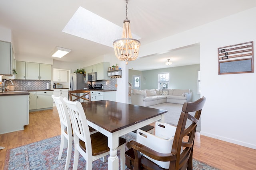
[[[219,74],[254,72],[253,41],[218,48]]]

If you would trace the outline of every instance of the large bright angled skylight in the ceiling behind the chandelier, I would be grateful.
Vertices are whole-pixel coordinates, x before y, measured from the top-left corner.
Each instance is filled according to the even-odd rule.
[[[62,32],[75,35],[108,47],[113,47],[113,41],[120,39],[123,28],[79,7]],[[132,34],[135,39],[141,39]]]

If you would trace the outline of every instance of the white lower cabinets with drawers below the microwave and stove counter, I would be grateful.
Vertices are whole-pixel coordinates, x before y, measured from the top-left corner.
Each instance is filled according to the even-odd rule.
[[[91,91],[91,101],[110,100],[116,102],[116,91]]]

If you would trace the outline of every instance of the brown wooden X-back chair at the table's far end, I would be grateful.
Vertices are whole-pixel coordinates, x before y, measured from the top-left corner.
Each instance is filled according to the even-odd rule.
[[[88,98],[86,96],[88,95]],[[70,101],[80,101],[79,99],[83,99],[90,102],[90,90],[69,90],[68,98]]]

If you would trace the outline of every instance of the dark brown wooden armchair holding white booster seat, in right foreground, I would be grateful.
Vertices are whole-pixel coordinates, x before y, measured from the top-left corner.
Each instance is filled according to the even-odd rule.
[[[206,98],[202,97],[195,102],[185,102],[182,107],[180,119],[176,127],[170,153],[160,153],[136,141],[127,143],[129,150],[125,152],[126,165],[133,170],[192,170],[193,146],[196,126],[200,118]],[[191,115],[194,113],[194,116]],[[187,121],[192,121],[185,127]],[[138,135],[138,134],[137,134]],[[164,139],[163,139],[164,140]],[[157,145],[157,144],[156,144]],[[145,156],[146,155],[146,156]],[[151,158],[148,159],[148,158]],[[162,168],[156,161],[170,162],[169,168]]]

